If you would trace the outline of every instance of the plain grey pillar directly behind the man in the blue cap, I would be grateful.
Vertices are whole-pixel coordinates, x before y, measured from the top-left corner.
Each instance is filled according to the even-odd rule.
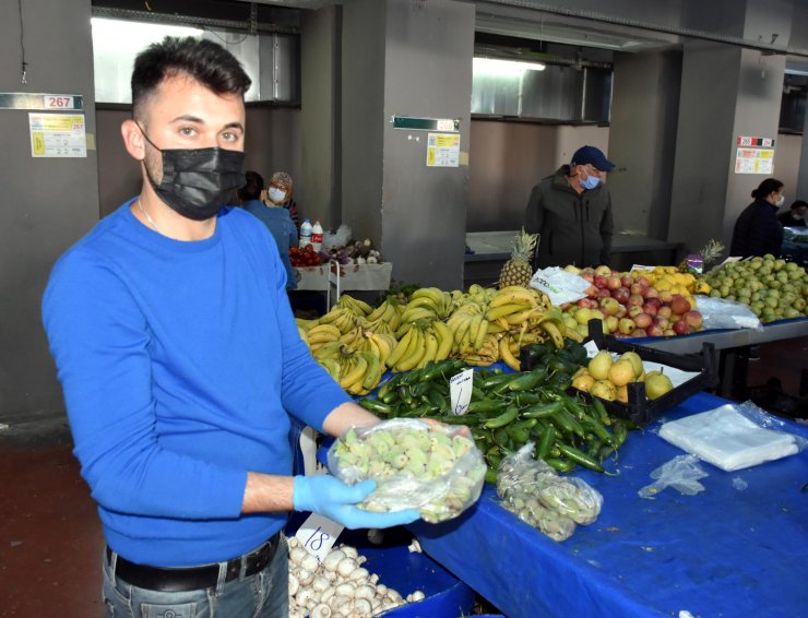
[[[665,238],[670,214],[681,54],[616,54],[608,176],[616,229]]]

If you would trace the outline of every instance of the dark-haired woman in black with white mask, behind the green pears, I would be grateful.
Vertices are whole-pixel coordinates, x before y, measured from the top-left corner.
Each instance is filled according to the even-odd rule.
[[[780,255],[783,226],[775,215],[785,203],[783,183],[776,178],[767,178],[752,191],[752,198],[754,201],[735,222],[729,254],[741,258],[767,253]]]

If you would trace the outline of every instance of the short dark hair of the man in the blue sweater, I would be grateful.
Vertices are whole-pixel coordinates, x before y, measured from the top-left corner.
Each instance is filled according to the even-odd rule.
[[[167,36],[134,59],[132,116],[138,118],[145,99],[166,78],[186,73],[216,94],[240,94],[252,81],[233,54],[212,40]]]

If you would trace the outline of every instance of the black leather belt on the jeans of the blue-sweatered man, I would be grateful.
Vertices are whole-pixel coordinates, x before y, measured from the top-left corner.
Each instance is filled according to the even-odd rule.
[[[277,550],[281,533],[277,532],[254,551],[227,561],[225,581],[254,575],[272,561]],[[107,546],[107,560],[111,563],[112,550]],[[203,567],[170,568],[136,564],[118,556],[115,574],[127,583],[161,592],[187,592],[215,586],[218,583],[218,564]]]

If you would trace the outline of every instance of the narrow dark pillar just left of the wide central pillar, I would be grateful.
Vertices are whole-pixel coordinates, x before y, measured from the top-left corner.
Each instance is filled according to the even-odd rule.
[[[340,212],[340,7],[305,11],[300,36],[300,215],[336,227]],[[299,197],[299,195],[298,195]]]

